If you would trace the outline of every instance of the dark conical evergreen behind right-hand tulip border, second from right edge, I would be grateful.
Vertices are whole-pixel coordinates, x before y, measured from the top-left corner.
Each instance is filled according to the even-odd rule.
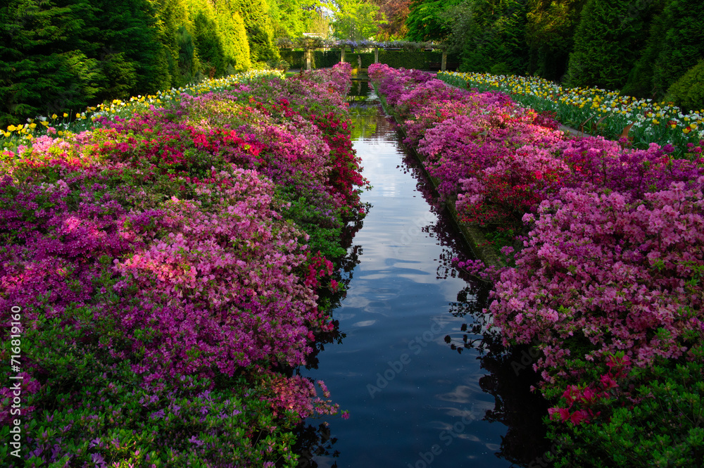
[[[648,15],[629,13],[628,0],[589,0],[582,10],[570,53],[571,87],[620,89],[645,46]]]

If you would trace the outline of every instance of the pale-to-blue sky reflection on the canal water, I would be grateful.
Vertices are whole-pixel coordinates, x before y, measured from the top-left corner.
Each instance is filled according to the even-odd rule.
[[[372,208],[354,239],[363,247],[360,264],[333,312],[347,336],[325,346],[319,369],[303,371],[324,380],[351,416],[329,419],[339,457],[315,461],[319,467],[415,466],[419,454],[437,444],[442,452],[433,467],[508,467],[494,455],[505,426],[482,421],[494,398],[479,388],[484,372],[476,353],[460,355],[444,342],[467,321],[449,313],[466,283],[437,279],[443,247],[432,229],[423,229],[436,223],[436,215],[413,175],[399,167],[403,153],[389,122],[367,119],[375,125],[360,122],[369,132],[359,132],[363,138],[354,146],[374,187],[363,194]]]

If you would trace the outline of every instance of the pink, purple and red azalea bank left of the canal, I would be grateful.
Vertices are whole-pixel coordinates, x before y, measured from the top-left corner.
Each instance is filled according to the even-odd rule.
[[[17,466],[295,465],[291,427],[338,411],[290,369],[332,329],[317,291],[337,288],[335,235],[363,215],[350,72],[184,94],[2,154]]]

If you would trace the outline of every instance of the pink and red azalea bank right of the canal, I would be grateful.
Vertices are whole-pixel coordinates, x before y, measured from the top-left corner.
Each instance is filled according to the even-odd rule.
[[[674,159],[667,145],[634,150],[568,138],[549,115],[505,94],[386,65],[369,73],[463,221],[526,229],[519,251],[503,248],[510,267],[483,271],[494,281],[486,312],[505,344],[541,350],[534,368],[555,398],[555,419],[572,429],[608,424],[616,407],[648,398],[639,386],[653,379],[646,371],[704,357],[704,141]],[[483,270],[476,261],[459,266]],[[688,369],[704,379],[701,366]],[[704,388],[693,395],[700,399]],[[677,429],[683,456],[700,456],[701,447],[687,443],[704,430],[700,407],[681,411],[667,418],[693,415]],[[564,442],[563,429],[553,436]],[[587,453],[579,463],[597,457],[572,451]],[[614,461],[604,456],[599,462]],[[562,460],[585,466],[574,462]]]

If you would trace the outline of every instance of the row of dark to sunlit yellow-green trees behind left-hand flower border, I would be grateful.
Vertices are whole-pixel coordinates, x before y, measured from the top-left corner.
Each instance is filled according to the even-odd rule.
[[[11,0],[0,125],[244,71],[251,43],[256,60],[278,58],[272,37],[265,0]]]

